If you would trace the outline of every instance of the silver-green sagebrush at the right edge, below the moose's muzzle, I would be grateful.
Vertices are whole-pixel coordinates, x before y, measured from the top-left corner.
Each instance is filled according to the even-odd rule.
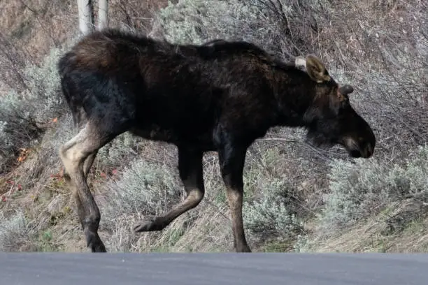
[[[322,228],[334,230],[378,214],[394,201],[428,202],[428,147],[419,147],[400,165],[378,159],[334,161],[320,214]]]

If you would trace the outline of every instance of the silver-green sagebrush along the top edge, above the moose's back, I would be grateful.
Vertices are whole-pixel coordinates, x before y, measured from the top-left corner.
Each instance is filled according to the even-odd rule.
[[[201,44],[215,38],[244,40],[288,57],[296,55],[297,50],[306,50],[302,31],[308,27],[306,18],[311,20],[314,16],[303,13],[318,7],[318,2],[308,0],[297,6],[289,0],[182,0],[160,11],[159,25],[163,36],[173,43]]]

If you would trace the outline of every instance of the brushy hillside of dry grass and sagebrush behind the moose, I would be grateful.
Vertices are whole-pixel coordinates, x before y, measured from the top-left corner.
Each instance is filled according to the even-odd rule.
[[[57,148],[71,115],[55,64],[76,41],[75,1],[1,1],[0,250],[85,251]],[[97,1],[95,1],[97,2]],[[320,56],[373,127],[369,161],[272,129],[246,160],[244,222],[257,251],[428,251],[426,1],[111,0],[110,25],[176,43],[244,39],[287,60]],[[31,3],[31,5],[30,5]],[[152,19],[152,17],[155,18]],[[90,187],[110,251],[229,251],[217,154],[206,197],[164,231],[134,221],[183,198],[176,148],[123,134],[100,150]]]

